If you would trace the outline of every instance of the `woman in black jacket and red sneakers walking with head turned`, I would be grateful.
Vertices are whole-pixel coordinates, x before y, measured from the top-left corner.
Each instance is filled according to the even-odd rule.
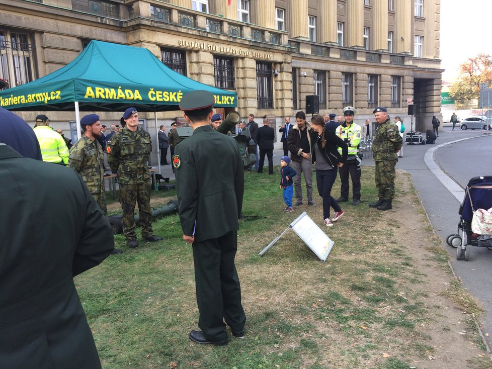
[[[320,115],[311,118],[311,125],[312,162],[316,168],[318,194],[323,199],[323,222],[327,227],[331,227],[332,222],[344,214],[340,205],[332,197],[331,191],[337,179],[338,167],[343,166],[347,160],[348,147],[335,132],[325,130],[324,120]],[[342,155],[338,152],[339,147],[342,148]],[[330,207],[335,210],[331,220]]]

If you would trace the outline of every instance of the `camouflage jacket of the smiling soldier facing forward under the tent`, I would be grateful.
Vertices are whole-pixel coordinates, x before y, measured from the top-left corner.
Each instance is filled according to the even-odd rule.
[[[150,180],[147,161],[152,152],[152,141],[147,131],[137,127],[135,132],[124,127],[106,143],[108,163],[118,182],[143,185]]]

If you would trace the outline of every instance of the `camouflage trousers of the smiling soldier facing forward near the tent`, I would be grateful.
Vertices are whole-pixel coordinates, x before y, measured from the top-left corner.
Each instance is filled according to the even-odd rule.
[[[150,182],[143,185],[128,185],[119,183],[120,187],[120,204],[123,210],[121,224],[123,234],[127,240],[137,238],[135,233],[135,204],[138,204],[140,225],[142,226],[142,236],[150,237],[152,235],[152,224],[150,217],[152,209],[150,208]]]

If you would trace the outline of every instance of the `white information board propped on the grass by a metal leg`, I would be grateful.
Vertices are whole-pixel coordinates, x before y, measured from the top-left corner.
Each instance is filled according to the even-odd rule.
[[[313,221],[306,212],[299,215],[280,236],[265,247],[260,255],[263,256],[267,250],[277,242],[289,229],[292,229],[304,243],[316,254],[321,261],[326,261],[330,251],[335,244]]]

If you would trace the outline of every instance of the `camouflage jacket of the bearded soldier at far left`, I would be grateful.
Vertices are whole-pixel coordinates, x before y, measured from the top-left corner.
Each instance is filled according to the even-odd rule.
[[[71,147],[68,166],[84,180],[91,194],[104,192],[104,153],[98,140],[82,136]]]

